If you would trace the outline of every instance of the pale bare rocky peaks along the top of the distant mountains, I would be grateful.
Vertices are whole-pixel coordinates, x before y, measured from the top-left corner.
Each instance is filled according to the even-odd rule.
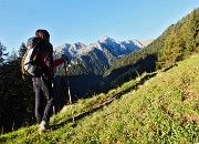
[[[94,49],[98,49],[102,52],[108,50],[114,56],[127,55],[133,51],[139,51],[142,48],[146,47],[145,43],[142,43],[138,40],[127,40],[127,41],[117,41],[107,35],[104,35],[97,42],[86,45],[84,43],[77,42],[74,44],[64,43],[57,47],[54,51],[54,58],[59,58],[61,54],[65,54],[69,59],[78,59],[81,60],[82,55],[85,55]]]

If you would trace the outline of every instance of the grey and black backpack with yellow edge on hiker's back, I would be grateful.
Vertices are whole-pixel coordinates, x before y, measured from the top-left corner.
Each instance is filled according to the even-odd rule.
[[[22,73],[31,76],[41,76],[43,74],[43,68],[41,65],[40,52],[42,40],[38,38],[31,38],[28,41],[28,50],[22,59]]]

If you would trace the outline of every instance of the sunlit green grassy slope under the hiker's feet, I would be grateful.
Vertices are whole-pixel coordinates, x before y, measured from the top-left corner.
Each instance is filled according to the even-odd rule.
[[[167,72],[144,74],[107,94],[80,100],[36,125],[0,136],[0,143],[196,143],[199,142],[199,55]],[[149,79],[150,78],[150,79]],[[146,81],[146,79],[149,79]]]

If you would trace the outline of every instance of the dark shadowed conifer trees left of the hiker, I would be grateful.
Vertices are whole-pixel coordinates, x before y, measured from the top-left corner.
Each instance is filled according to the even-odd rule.
[[[12,58],[4,49],[0,64],[0,133],[14,131],[22,125],[30,125],[34,120],[34,93],[31,79],[21,76],[21,56],[24,43],[20,48],[19,58]],[[7,56],[6,56],[7,55]]]

